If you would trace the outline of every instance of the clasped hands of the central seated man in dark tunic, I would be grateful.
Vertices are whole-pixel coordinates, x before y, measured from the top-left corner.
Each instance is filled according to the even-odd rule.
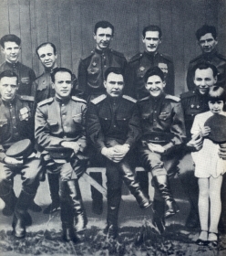
[[[119,163],[127,155],[129,148],[129,144],[117,144],[102,148],[101,154],[105,155],[112,162]]]

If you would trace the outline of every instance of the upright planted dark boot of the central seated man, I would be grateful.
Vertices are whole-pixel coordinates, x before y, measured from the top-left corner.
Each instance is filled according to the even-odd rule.
[[[121,189],[108,190],[107,237],[116,239],[118,236],[118,211],[121,201]]]

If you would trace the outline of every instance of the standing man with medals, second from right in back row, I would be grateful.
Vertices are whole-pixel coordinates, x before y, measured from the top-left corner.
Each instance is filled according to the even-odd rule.
[[[150,25],[144,27],[142,33],[142,41],[145,46],[143,53],[136,54],[128,62],[127,69],[127,87],[125,93],[131,95],[135,99],[143,99],[149,96],[146,90],[144,74],[154,66],[158,66],[164,73],[166,81],[165,92],[174,95],[174,67],[172,60],[159,53],[159,45],[161,43],[162,33],[158,26]]]

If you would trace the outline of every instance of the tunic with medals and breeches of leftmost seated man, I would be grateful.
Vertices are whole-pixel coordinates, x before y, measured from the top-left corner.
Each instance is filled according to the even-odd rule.
[[[0,177],[0,195],[6,195],[13,187],[13,176],[21,173],[22,186],[30,193],[36,193],[41,175],[41,165],[36,157],[27,158],[20,166],[5,164],[5,151],[10,145],[30,139],[34,143],[34,97],[16,96],[13,101],[0,100],[0,169],[5,174],[10,171],[10,176],[4,174]]]

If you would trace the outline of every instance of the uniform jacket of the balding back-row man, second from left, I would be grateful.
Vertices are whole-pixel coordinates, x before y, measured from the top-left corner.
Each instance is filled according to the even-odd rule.
[[[35,99],[36,102],[44,101],[48,98],[55,96],[55,90],[52,88],[52,80],[50,76],[50,71],[44,72],[40,77],[38,77],[34,83],[33,88],[35,89]],[[77,88],[77,78],[73,75],[73,89]],[[74,95],[74,90],[72,91]]]

